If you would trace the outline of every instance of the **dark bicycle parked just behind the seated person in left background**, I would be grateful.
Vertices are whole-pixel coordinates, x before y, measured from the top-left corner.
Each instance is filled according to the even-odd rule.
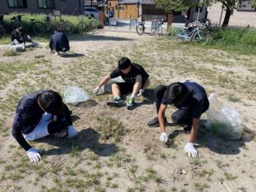
[[[25,27],[26,24],[22,20],[23,15],[18,15],[17,17],[12,17],[11,19],[11,25],[12,25],[12,30],[17,29],[18,27]],[[40,21],[35,21],[36,19],[30,18],[30,30],[32,30],[35,34],[37,35],[44,35],[45,34],[45,26],[42,22]]]

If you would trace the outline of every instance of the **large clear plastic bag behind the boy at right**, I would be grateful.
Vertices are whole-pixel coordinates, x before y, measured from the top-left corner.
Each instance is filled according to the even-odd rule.
[[[220,137],[239,139],[243,132],[243,120],[238,110],[220,102],[213,93],[208,100],[210,107],[206,111],[206,128]]]

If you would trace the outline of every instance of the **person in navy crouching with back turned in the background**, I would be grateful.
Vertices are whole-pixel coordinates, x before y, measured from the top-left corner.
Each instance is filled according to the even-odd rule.
[[[49,43],[51,52],[55,52],[55,55],[59,55],[60,51],[66,52],[70,50],[68,37],[64,34],[58,31],[57,28],[55,28],[55,32],[52,35]]]

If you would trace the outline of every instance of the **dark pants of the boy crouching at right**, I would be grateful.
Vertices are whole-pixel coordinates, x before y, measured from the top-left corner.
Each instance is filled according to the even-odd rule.
[[[160,105],[162,102],[162,99],[165,94],[165,90],[167,89],[166,85],[158,85],[155,88],[155,102],[156,102],[156,112],[158,114],[158,111],[160,109]],[[206,109],[207,110],[207,109]],[[202,113],[204,113],[206,110],[203,110]],[[190,110],[176,110],[172,114],[172,120],[174,123],[177,124],[186,124],[188,128],[192,127],[192,111]]]

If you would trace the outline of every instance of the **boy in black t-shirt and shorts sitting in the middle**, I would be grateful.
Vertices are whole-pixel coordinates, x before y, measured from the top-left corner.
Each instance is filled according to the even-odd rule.
[[[111,85],[114,100],[107,102],[111,106],[121,106],[125,102],[120,98],[121,94],[132,92],[126,107],[128,110],[135,108],[135,99],[138,95],[142,95],[149,85],[149,75],[144,68],[139,64],[132,64],[127,57],[119,59],[118,67],[110,73],[109,76],[102,79],[98,87],[93,90],[94,94],[99,92],[101,86],[105,85],[110,79],[121,76],[125,82],[113,83]]]

